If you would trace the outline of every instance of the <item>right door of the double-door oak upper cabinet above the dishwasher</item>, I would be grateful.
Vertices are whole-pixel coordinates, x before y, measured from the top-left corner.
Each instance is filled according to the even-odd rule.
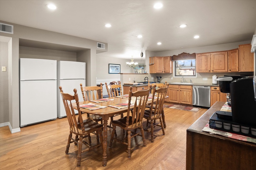
[[[228,52],[211,53],[211,72],[228,72]]]

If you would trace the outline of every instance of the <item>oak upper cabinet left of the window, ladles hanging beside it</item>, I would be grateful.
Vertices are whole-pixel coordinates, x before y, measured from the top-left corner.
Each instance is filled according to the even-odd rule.
[[[172,73],[172,58],[149,57],[149,73]]]

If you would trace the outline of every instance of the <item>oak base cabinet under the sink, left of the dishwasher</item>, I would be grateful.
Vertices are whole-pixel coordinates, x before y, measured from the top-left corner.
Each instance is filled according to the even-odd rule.
[[[192,86],[169,85],[168,102],[192,105]]]

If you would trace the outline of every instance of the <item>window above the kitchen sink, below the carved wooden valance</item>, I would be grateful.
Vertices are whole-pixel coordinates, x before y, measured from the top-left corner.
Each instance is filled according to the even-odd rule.
[[[178,60],[173,62],[174,77],[196,77],[196,60]]]

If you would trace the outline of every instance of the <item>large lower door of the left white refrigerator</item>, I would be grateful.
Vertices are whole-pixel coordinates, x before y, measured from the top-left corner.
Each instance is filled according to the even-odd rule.
[[[20,127],[57,118],[57,80],[20,81]]]

